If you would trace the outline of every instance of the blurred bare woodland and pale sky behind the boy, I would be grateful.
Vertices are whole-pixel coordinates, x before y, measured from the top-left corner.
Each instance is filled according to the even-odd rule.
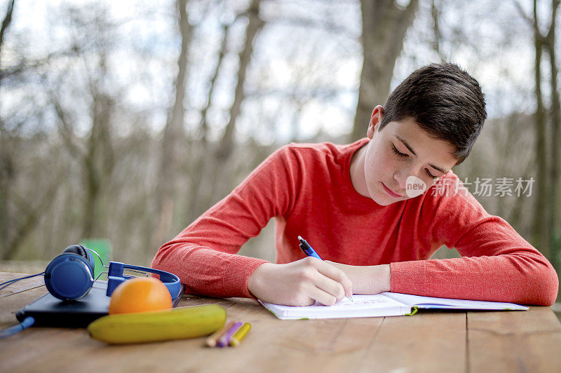
[[[358,140],[405,76],[452,61],[489,112],[454,172],[533,179],[529,195],[476,198],[558,270],[558,5],[2,0],[1,263],[42,270],[109,238],[114,259],[149,264],[272,151]],[[240,253],[273,261],[272,236],[269,224]]]

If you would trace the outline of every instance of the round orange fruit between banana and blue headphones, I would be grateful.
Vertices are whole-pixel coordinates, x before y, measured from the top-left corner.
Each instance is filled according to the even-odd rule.
[[[126,280],[115,288],[109,301],[109,315],[170,308],[172,308],[172,300],[168,288],[154,277]]]

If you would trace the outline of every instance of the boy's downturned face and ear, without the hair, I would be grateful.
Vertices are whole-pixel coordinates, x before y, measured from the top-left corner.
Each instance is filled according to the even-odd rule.
[[[422,194],[457,159],[448,142],[430,137],[412,118],[390,122],[379,130],[382,116],[383,108],[375,107],[367,130],[371,140],[365,152],[364,175],[370,198],[379,205],[390,205]],[[418,190],[423,183],[426,189]]]

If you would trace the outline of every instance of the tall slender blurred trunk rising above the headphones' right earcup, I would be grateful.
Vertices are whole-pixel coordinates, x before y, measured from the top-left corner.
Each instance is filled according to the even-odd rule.
[[[189,44],[193,35],[193,26],[189,24],[187,0],[177,0],[179,27],[181,34],[181,52],[177,58],[177,78],[175,79],[175,102],[165,124],[162,138],[159,175],[156,184],[156,216],[157,226],[151,240],[151,247],[161,245],[170,233],[173,219],[173,201],[179,168],[180,142],[184,139],[183,123],[185,108],[185,84]]]

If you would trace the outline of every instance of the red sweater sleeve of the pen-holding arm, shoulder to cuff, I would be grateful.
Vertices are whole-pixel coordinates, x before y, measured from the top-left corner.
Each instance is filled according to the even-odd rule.
[[[175,273],[191,294],[252,297],[248,278],[266,261],[236,253],[271,217],[290,212],[298,194],[298,170],[290,146],[278,149],[231,194],[162,245],[152,267]]]

